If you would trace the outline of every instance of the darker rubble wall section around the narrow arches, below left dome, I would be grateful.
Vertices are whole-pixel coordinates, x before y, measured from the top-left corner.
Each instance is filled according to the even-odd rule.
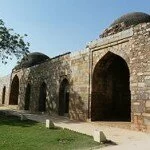
[[[22,72],[24,73],[22,74]],[[22,74],[20,78],[20,109],[24,109],[26,87],[30,84],[30,110],[38,111],[40,86],[45,82],[47,85],[47,110],[49,113],[57,112],[60,82],[63,78],[70,79],[68,55],[22,69],[17,74]]]

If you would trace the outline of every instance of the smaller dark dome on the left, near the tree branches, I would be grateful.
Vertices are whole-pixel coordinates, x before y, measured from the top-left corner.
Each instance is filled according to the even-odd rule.
[[[49,57],[43,53],[33,52],[23,57],[19,65],[15,69],[28,68],[37,64],[40,64],[49,59]]]

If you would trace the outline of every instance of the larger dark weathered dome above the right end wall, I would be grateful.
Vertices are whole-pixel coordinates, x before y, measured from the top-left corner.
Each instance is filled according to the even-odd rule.
[[[150,15],[143,12],[132,12],[116,19],[110,26],[124,23],[126,26],[137,25],[139,23],[150,22]]]

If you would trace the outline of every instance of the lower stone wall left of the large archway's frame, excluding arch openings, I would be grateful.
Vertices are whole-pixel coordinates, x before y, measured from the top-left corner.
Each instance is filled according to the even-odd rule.
[[[39,91],[43,82],[47,85],[47,111],[57,113],[59,108],[59,88],[63,79],[70,85],[69,117],[86,120],[89,97],[89,53],[88,49],[52,58],[40,65],[13,72],[20,81],[19,109],[24,109],[25,92],[31,86],[30,110],[38,111]]]

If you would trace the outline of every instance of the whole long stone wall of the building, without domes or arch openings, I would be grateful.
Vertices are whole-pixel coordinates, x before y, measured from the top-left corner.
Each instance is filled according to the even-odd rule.
[[[47,86],[46,110],[50,114],[58,114],[60,85],[64,79],[67,79],[70,92],[69,118],[91,119],[94,69],[98,62],[105,59],[109,53],[122,59],[129,69],[129,91],[125,91],[124,95],[126,96],[126,92],[131,92],[128,93],[128,98],[131,97],[133,128],[149,129],[150,23],[142,23],[117,34],[94,40],[81,51],[67,53],[30,68],[14,70],[11,81],[15,75],[18,76],[19,109],[24,109],[26,87],[30,84],[30,111],[38,111],[40,86],[44,82]],[[113,61],[112,58],[110,57],[110,62]],[[103,68],[99,68],[101,69]],[[5,82],[2,80],[1,83]],[[110,92],[109,89],[108,94]]]

